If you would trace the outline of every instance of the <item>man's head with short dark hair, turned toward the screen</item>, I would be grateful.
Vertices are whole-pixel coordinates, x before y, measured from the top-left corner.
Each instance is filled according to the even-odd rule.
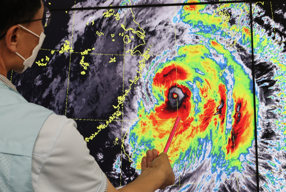
[[[23,59],[32,55],[39,38],[29,31],[40,35],[43,32],[43,4],[41,0],[2,0],[0,1],[0,74],[6,76],[12,69],[23,69]],[[36,21],[33,21],[36,20]],[[32,21],[32,22],[30,22]]]

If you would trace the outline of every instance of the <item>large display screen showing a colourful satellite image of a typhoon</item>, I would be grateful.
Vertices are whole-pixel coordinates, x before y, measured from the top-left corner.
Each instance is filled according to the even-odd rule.
[[[180,116],[164,191],[286,191],[284,1],[44,4],[36,62],[8,78],[76,121],[115,187]]]

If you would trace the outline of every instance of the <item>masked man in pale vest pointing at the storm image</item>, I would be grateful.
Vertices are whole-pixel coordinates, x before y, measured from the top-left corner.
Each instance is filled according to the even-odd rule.
[[[28,103],[7,79],[31,67],[49,23],[40,0],[0,1],[0,191],[117,191],[86,148],[76,123]],[[142,174],[119,191],[174,183],[168,156],[148,150]]]

